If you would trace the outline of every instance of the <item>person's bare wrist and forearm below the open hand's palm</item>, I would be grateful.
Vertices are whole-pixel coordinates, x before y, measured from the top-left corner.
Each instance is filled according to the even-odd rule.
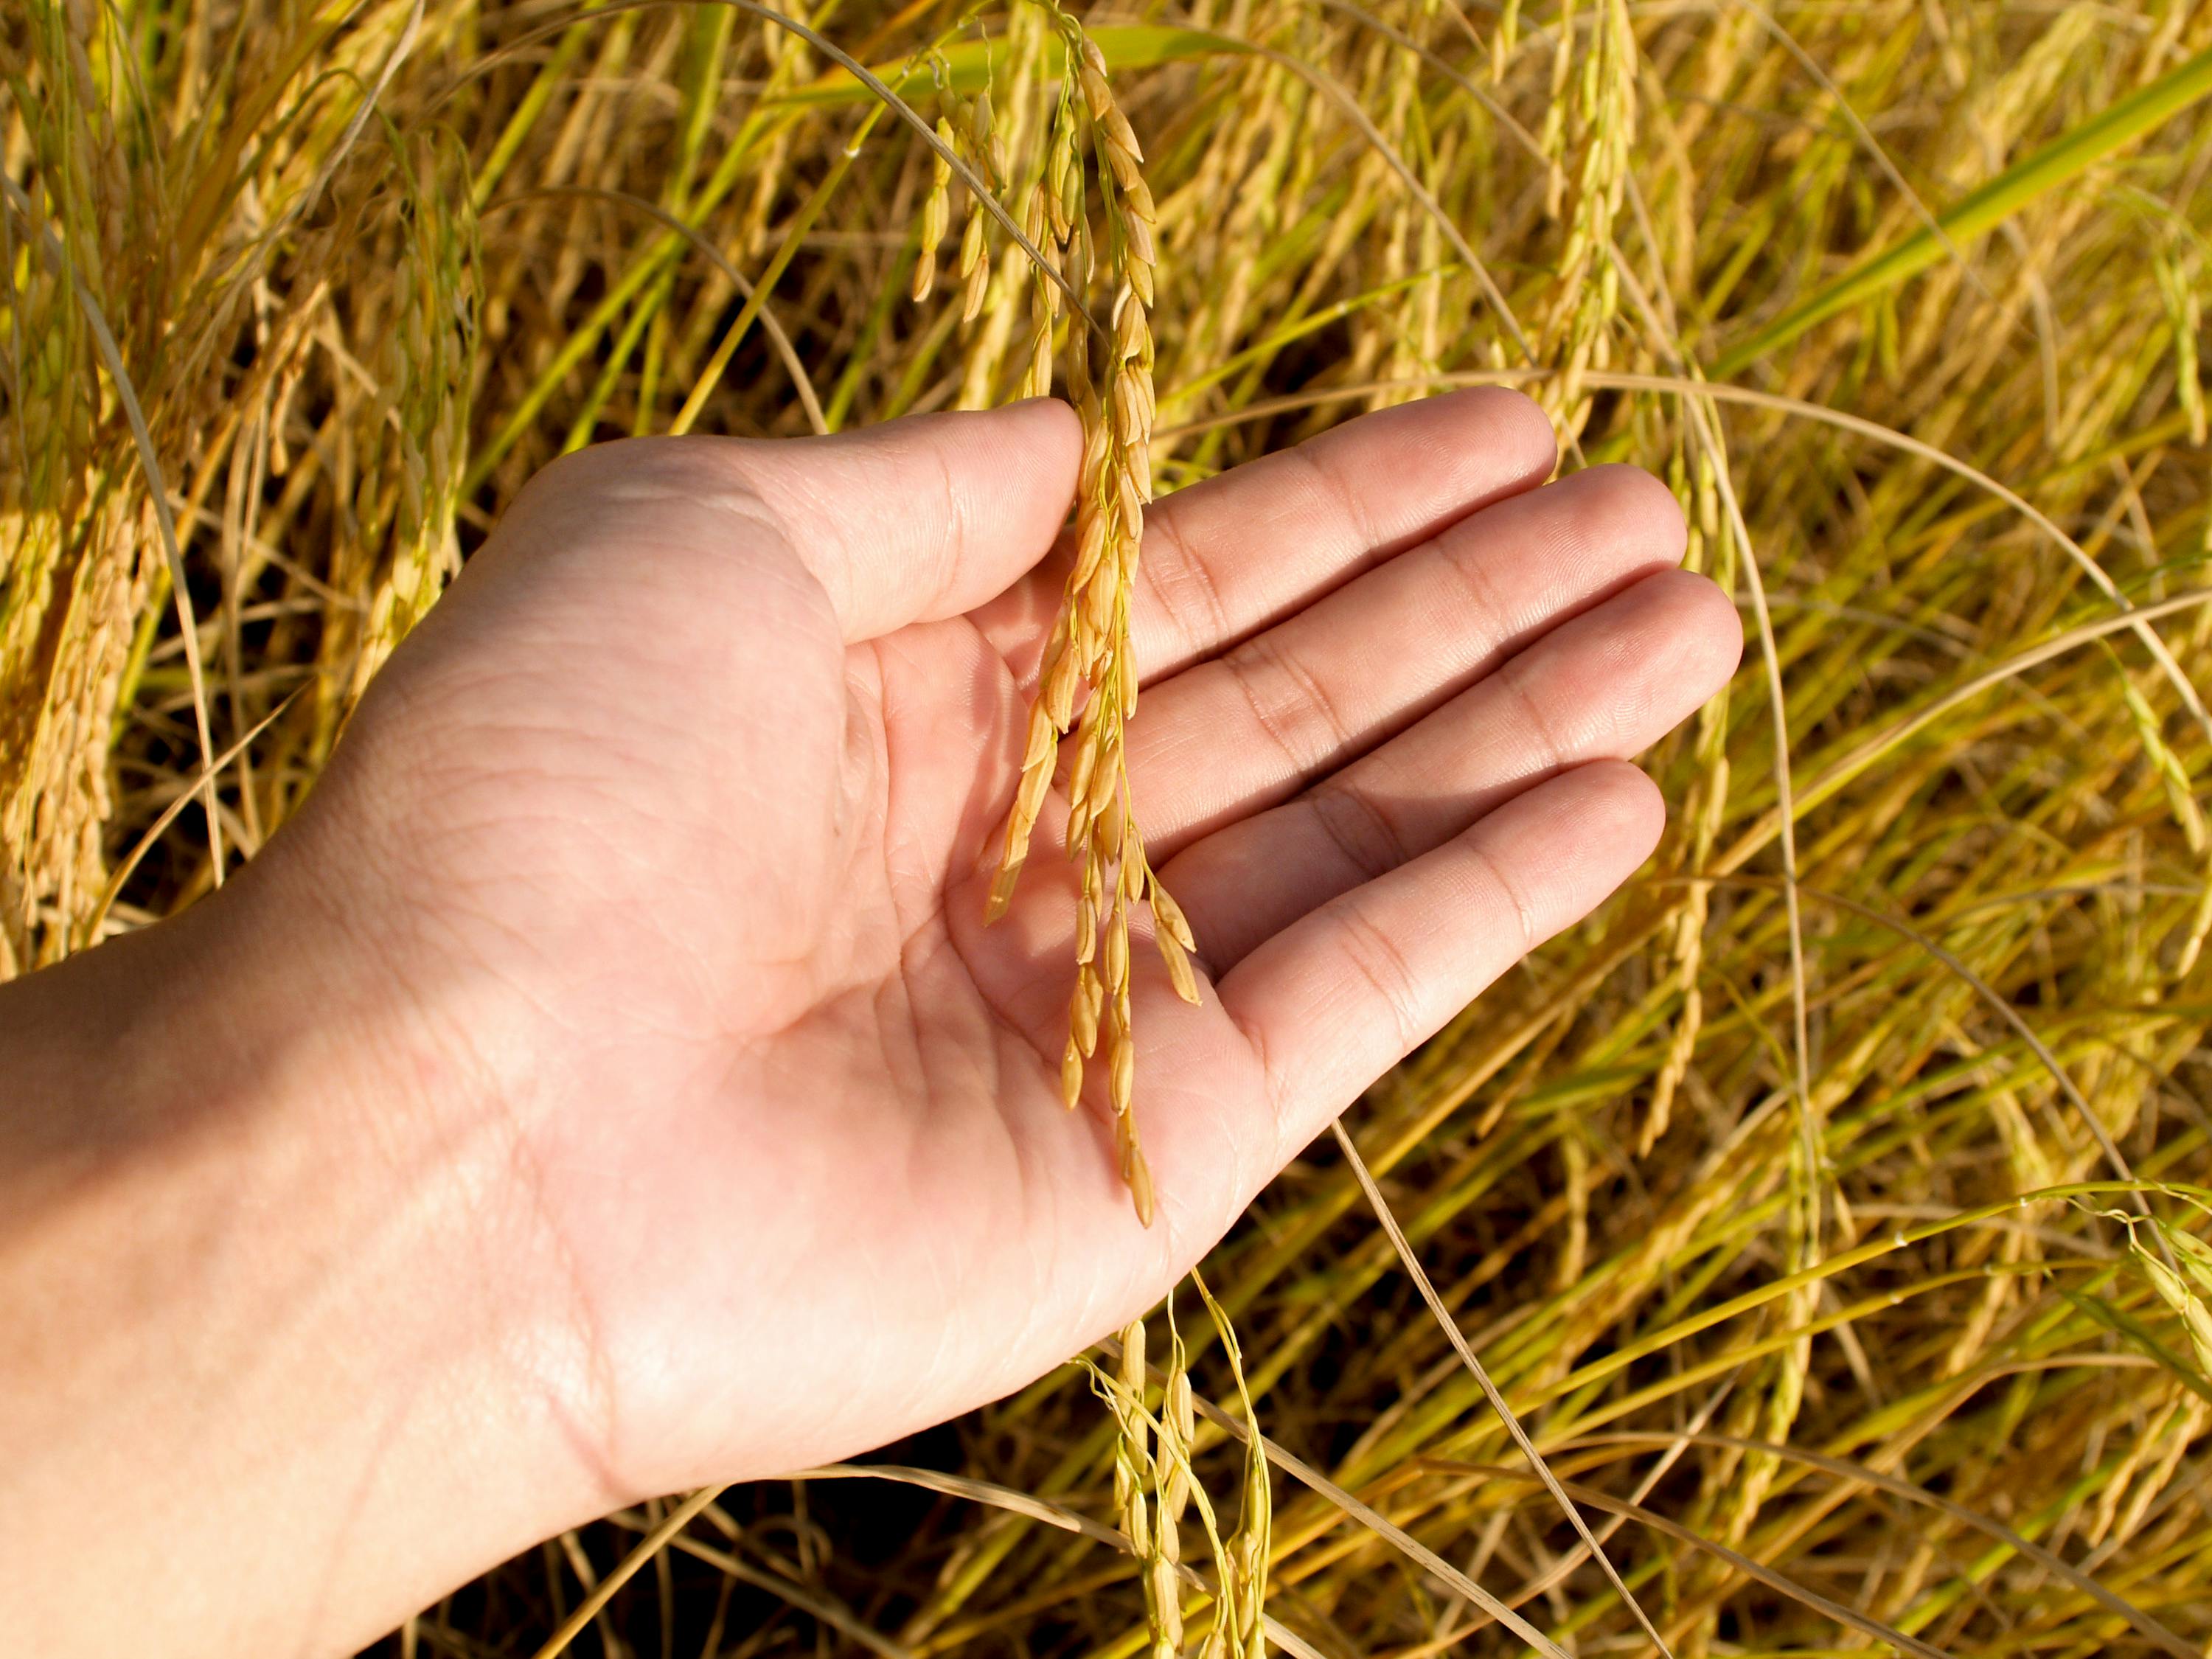
[[[606,1500],[511,1079],[265,876],[0,987],[0,1604],[40,1652],[150,1613],[349,1650]]]

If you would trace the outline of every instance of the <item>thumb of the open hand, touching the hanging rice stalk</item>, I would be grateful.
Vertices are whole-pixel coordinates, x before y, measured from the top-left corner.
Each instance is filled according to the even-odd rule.
[[[723,442],[823,584],[847,641],[973,611],[1042,560],[1082,462],[1055,398],[832,438]]]

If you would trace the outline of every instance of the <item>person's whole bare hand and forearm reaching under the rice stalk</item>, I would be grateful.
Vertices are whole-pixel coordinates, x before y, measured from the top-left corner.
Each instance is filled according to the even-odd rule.
[[[250,867],[0,987],[11,1644],[345,1652],[1004,1396],[1650,854],[1628,761],[1741,648],[1655,480],[1546,484],[1486,389],[1157,504],[1141,1228],[1060,1106],[1053,803],[984,927],[1077,458],[1031,403],[562,460]]]

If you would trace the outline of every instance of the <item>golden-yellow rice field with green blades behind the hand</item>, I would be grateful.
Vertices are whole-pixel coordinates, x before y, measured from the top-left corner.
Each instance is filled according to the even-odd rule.
[[[1020,217],[1035,4],[781,9],[927,122],[989,88]],[[1509,380],[1743,604],[1655,863],[1347,1119],[1637,1599],[1690,1655],[2205,1652],[2212,4],[1084,22],[1159,208],[1161,489]],[[0,77],[0,973],[250,858],[562,449],[1029,369],[1022,250],[958,270],[962,186],[925,250],[931,153],[757,7],[20,0]],[[1650,1650],[1334,1144],[1208,1279],[1340,1489],[1276,1478],[1298,1644],[1526,1652],[1473,1579]],[[887,1453],[931,1486],[726,1493],[580,1648],[1144,1652],[1135,1562],[1018,1498],[1108,1520],[1113,1444],[1066,1369]],[[385,1650],[529,1655],[657,1520]]]

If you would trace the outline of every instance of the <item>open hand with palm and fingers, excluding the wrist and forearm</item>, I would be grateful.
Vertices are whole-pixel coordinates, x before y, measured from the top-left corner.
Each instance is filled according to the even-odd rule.
[[[1152,509],[1130,779],[1203,1004],[1135,967],[1130,1212],[1057,1064],[1046,807],[984,927],[1064,405],[582,451],[400,648],[254,880],[405,989],[604,1493],[847,1455],[1152,1303],[1360,1088],[1650,852],[1626,757],[1736,661],[1632,469],[1469,392]]]

